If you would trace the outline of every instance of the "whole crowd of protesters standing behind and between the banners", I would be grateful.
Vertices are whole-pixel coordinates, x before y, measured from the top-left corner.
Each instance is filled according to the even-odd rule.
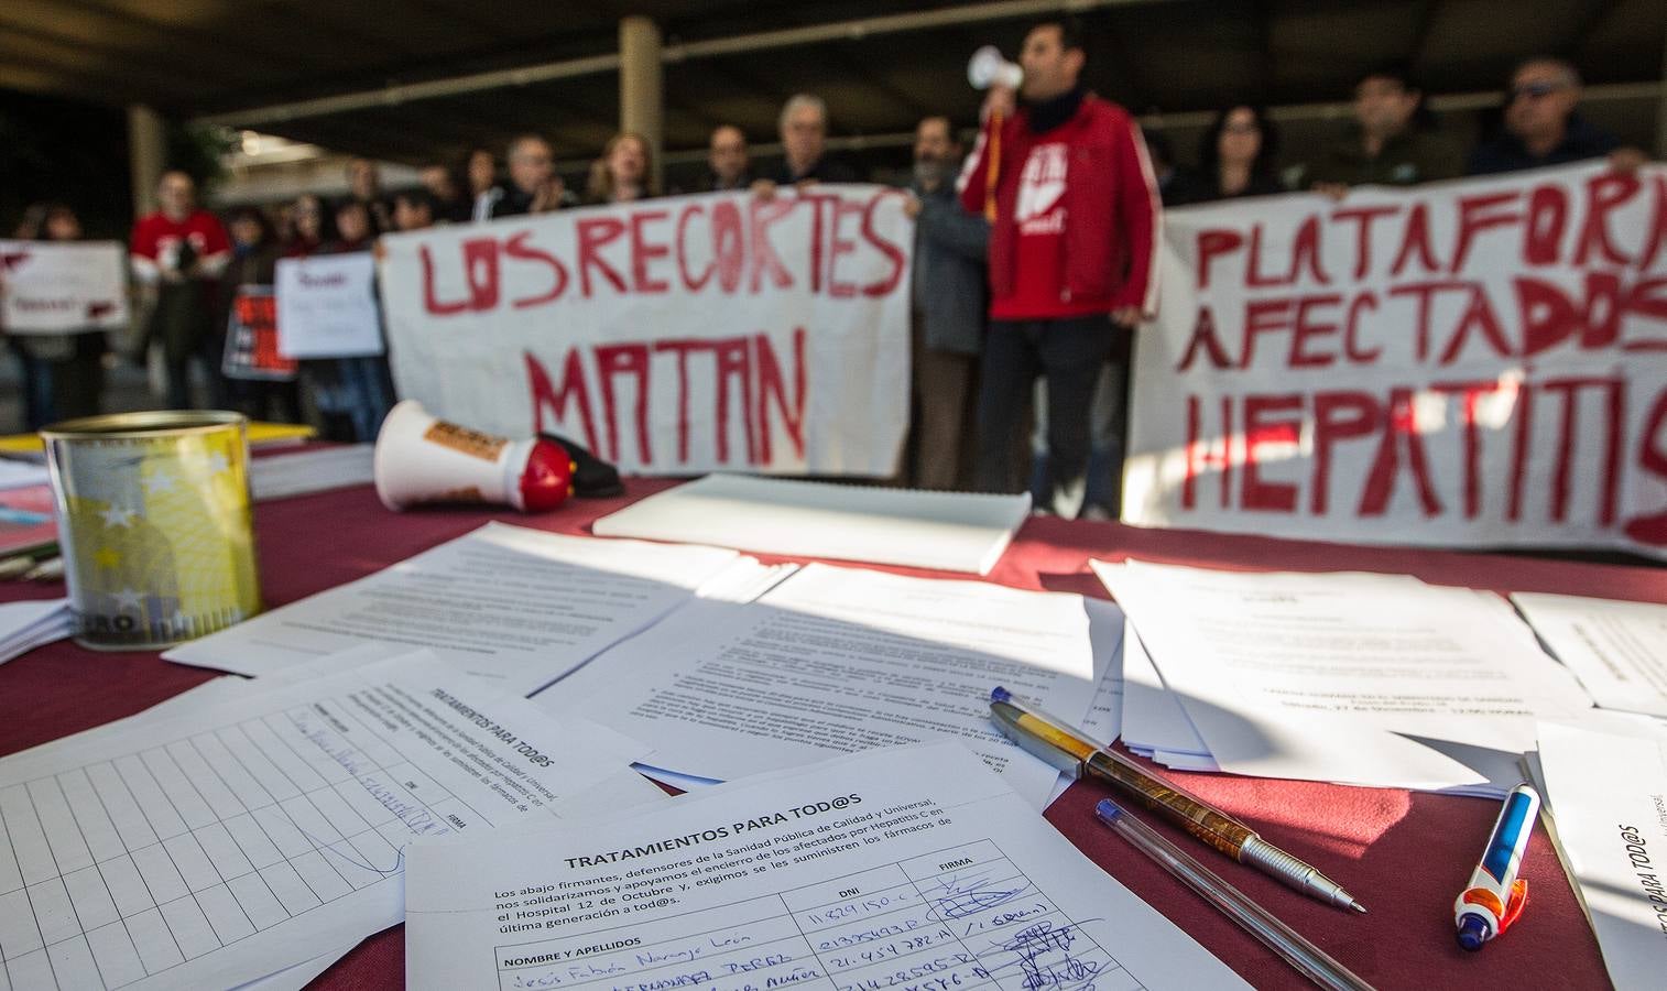
[[[1215,113],[1197,165],[1182,169],[1165,135],[1142,133],[1124,108],[1084,88],[1085,62],[1075,20],[1044,22],[1025,38],[1019,92],[990,92],[970,148],[947,117],[919,123],[907,202],[917,244],[912,434],[902,482],[1029,485],[1045,511],[1115,516],[1130,342],[1154,310],[1162,207],[1292,190],[1344,197],[1354,185],[1412,185],[1597,157],[1622,170],[1644,162],[1642,152],[1580,117],[1572,65],[1532,58],[1509,80],[1499,133],[1469,148],[1442,130],[1405,70],[1385,67],[1360,75],[1352,120],[1309,160],[1282,160],[1264,108],[1239,103]],[[862,179],[828,153],[827,130],[823,102],[793,95],[778,118],[777,169],[755,170],[747,135],[720,125],[710,135],[707,174],[693,189],[670,192],[772,197],[783,187]],[[307,419],[332,439],[370,439],[393,402],[385,359],[302,362],[293,382],[220,375],[238,287],[270,285],[283,257],[373,250],[385,232],[662,195],[650,155],[643,137],[618,133],[583,190],[573,190],[557,174],[552,145],[525,133],[502,148],[502,158],[497,148],[472,148],[455,167],[422,169],[420,187],[392,195],[375,163],[355,158],[348,194],[337,202],[308,194],[272,212],[237,209],[225,222],[197,205],[190,177],[168,172],[157,190],[158,210],[132,234],[147,315],[130,350],[140,360],[148,355],[170,407]],[[1074,160],[1085,165],[1069,165]],[[42,205],[17,237],[75,240],[80,225],[70,207]],[[30,429],[97,412],[107,360],[102,334],[8,342],[25,369]],[[205,385],[197,395],[195,380]]]

